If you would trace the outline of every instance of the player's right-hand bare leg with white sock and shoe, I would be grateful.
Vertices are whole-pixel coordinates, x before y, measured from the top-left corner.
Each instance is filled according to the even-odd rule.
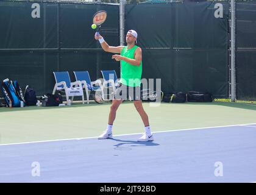
[[[145,126],[145,133],[141,138],[138,139],[138,141],[153,141],[154,138],[151,133],[151,128],[149,126],[149,118],[147,113],[144,111],[142,101],[141,100],[133,101],[133,104],[135,105],[136,110],[140,114],[140,117]]]

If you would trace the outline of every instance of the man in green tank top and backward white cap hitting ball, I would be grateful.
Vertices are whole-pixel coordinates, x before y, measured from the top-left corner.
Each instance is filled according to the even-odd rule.
[[[112,138],[112,127],[116,117],[116,110],[124,99],[131,99],[135,108],[141,116],[145,126],[145,133],[138,139],[138,141],[153,141],[151,127],[149,126],[148,115],[143,109],[141,94],[140,94],[140,80],[142,73],[142,51],[135,42],[138,34],[135,30],[129,30],[126,35],[127,46],[108,46],[104,38],[95,34],[94,38],[99,40],[102,49],[106,52],[115,53],[112,59],[121,61],[121,79],[118,88],[115,90],[114,99],[110,107],[108,116],[107,129],[98,137],[99,140]],[[120,54],[120,55],[118,55]]]

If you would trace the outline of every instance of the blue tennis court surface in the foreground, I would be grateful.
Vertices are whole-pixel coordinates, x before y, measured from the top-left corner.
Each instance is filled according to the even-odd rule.
[[[138,137],[3,144],[0,182],[256,181],[256,124]]]

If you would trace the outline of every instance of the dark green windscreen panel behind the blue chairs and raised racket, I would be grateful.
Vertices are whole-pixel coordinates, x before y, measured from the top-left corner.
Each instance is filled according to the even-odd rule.
[[[88,71],[91,80],[102,78],[101,69],[119,63],[94,40],[93,15],[106,10],[101,28],[108,44],[119,44],[119,7],[108,4],[0,1],[0,79],[17,80],[38,95],[51,93],[53,71]]]

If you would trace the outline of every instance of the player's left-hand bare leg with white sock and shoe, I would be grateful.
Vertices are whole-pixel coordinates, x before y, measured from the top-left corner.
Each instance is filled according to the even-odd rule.
[[[112,126],[116,118],[116,110],[122,102],[122,99],[113,99],[112,105],[110,107],[110,113],[108,115],[107,129],[98,137],[99,140],[112,138]]]

